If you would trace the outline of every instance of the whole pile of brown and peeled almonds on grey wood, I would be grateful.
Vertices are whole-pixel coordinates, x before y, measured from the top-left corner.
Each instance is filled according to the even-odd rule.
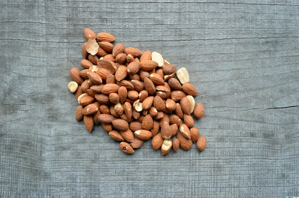
[[[150,138],[162,155],[171,147],[189,150],[196,142],[200,151],[205,149],[205,136],[199,137],[191,116],[201,118],[204,108],[195,105],[197,91],[185,68],[176,71],[157,52],[113,45],[115,37],[106,32],[96,35],[85,28],[84,36],[83,70],[71,69],[68,88],[79,103],[76,120],[83,119],[88,132],[101,123],[127,154]]]

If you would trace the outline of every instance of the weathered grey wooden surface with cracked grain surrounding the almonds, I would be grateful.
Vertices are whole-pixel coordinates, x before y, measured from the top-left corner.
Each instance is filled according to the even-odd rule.
[[[298,0],[2,0],[0,26],[0,197],[299,196]],[[85,27],[187,68],[204,152],[75,121]]]

